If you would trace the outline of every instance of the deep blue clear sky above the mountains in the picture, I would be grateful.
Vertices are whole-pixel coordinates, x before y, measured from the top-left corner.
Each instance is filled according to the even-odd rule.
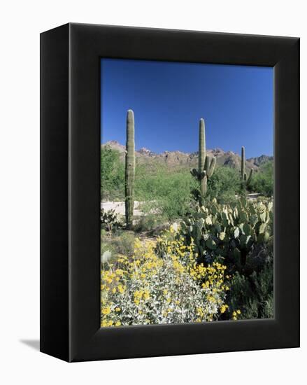
[[[101,143],[125,144],[128,109],[136,149],[197,151],[204,118],[207,148],[273,155],[271,67],[101,59]]]

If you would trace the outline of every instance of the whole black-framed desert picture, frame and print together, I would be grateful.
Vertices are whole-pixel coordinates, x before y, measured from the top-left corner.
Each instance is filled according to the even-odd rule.
[[[41,351],[299,346],[299,38],[41,34]]]

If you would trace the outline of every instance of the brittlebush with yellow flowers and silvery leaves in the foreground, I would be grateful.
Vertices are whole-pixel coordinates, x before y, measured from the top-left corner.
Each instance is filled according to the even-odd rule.
[[[214,321],[228,311],[225,266],[197,265],[194,245],[136,239],[134,254],[101,269],[101,326]]]

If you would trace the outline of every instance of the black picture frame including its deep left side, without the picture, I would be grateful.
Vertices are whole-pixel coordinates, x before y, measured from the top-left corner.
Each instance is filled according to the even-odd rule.
[[[271,66],[273,319],[100,328],[100,59]],[[41,34],[41,351],[67,361],[299,346],[299,38],[69,23]]]

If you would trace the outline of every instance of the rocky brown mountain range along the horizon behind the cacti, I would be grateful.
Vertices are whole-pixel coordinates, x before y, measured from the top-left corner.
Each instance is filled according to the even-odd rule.
[[[120,153],[120,157],[124,160],[124,151],[126,147],[117,141],[108,141],[106,144],[101,144],[101,147],[108,146]],[[215,156],[217,165],[229,166],[239,169],[241,167],[241,156],[232,151],[223,151],[221,148],[213,148],[206,150],[209,156]],[[136,151],[136,160],[139,163],[164,163],[168,167],[196,167],[198,161],[198,153],[183,153],[181,151],[164,151],[163,153],[154,153],[148,148],[142,147]],[[260,155],[256,158],[249,158],[246,160],[246,167],[248,169],[259,169],[264,163],[273,160],[273,156]]]

